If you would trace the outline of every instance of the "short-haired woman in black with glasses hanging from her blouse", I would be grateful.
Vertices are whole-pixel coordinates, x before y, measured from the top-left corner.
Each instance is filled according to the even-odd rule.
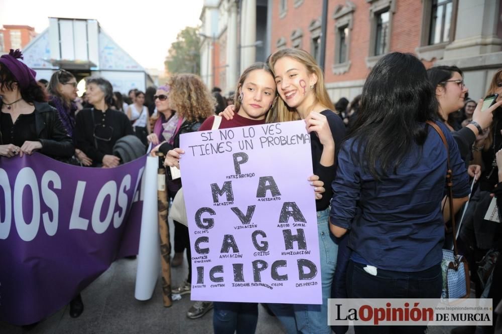
[[[75,146],[91,160],[92,167],[113,168],[120,158],[113,155],[115,142],[134,134],[129,118],[123,112],[112,110],[113,90],[103,78],[87,80],[87,98],[94,107],[81,110],[75,123]]]

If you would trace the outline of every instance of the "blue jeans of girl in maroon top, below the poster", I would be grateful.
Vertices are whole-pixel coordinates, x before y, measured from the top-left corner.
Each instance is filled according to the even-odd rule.
[[[258,324],[257,303],[213,302],[215,334],[253,334]]]

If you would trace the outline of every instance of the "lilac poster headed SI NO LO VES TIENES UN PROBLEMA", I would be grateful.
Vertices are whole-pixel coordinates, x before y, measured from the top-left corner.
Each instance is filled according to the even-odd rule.
[[[192,300],[320,304],[305,122],[182,134]]]

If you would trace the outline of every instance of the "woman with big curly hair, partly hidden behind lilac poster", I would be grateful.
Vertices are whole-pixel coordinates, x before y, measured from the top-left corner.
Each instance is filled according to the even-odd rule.
[[[174,110],[169,122],[175,123],[174,135],[159,144],[153,151],[160,150],[166,154],[169,150],[180,147],[180,135],[198,131],[204,120],[214,114],[216,100],[211,95],[202,80],[194,74],[176,74],[168,82],[169,105]],[[169,170],[168,170],[169,171]],[[181,188],[181,179],[168,180],[168,197],[174,198]],[[183,252],[187,250],[188,279],[173,293],[190,293],[192,281],[192,263],[188,228],[179,222],[174,222],[174,251],[172,266],[180,266],[183,262]]]

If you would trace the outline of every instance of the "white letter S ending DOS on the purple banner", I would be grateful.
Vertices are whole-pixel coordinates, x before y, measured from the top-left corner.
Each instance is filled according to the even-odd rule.
[[[61,189],[61,179],[56,172],[47,171],[44,173],[42,184],[40,185],[45,205],[52,211],[52,221],[49,219],[48,212],[42,214],[42,221],[44,222],[45,232],[52,237],[58,230],[59,199],[56,193],[49,189],[49,182],[52,182],[54,189]]]

